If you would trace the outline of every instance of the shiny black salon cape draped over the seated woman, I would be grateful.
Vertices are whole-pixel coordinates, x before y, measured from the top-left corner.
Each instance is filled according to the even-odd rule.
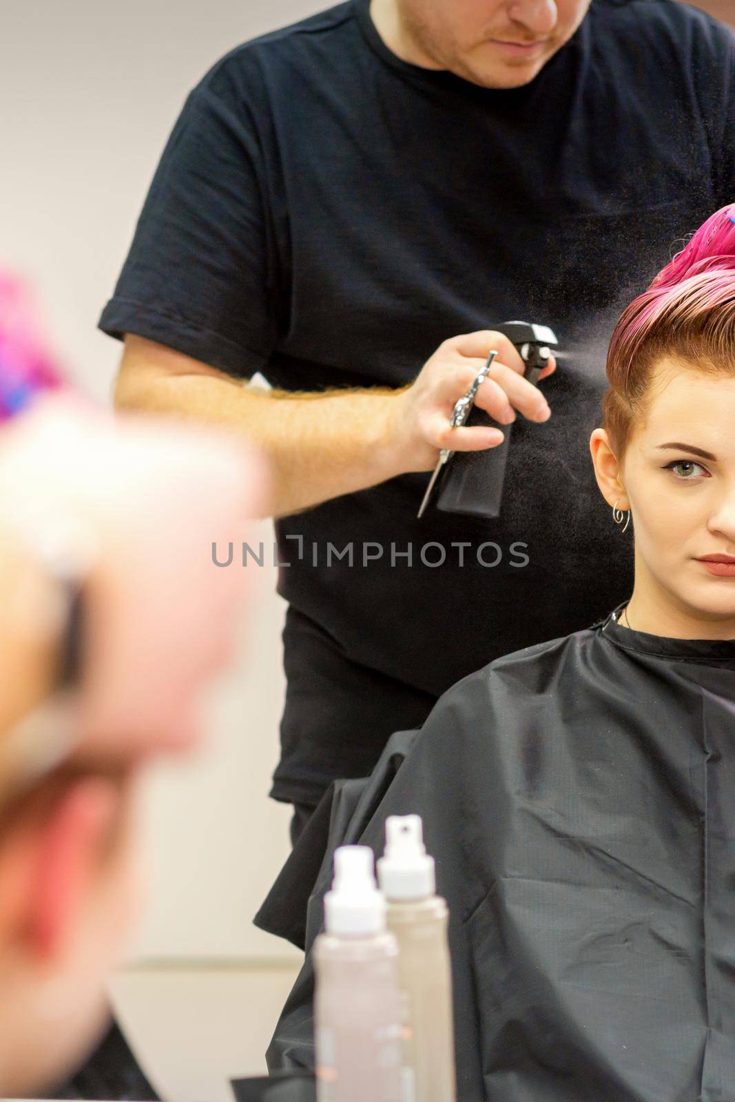
[[[618,613],[450,689],[361,833],[423,817],[461,1102],[735,1099],[735,641]],[[309,954],[271,1068],[311,1063],[311,994]]]

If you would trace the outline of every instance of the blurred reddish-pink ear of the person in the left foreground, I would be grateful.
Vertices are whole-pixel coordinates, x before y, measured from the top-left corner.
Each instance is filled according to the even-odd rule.
[[[94,892],[104,844],[120,804],[112,781],[72,781],[39,828],[26,879],[22,938],[28,952],[51,960],[69,934]]]

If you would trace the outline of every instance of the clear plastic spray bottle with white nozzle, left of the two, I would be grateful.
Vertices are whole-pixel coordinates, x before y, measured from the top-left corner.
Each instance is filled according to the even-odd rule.
[[[314,942],[318,1102],[402,1102],[398,946],[372,850],[344,845]]]

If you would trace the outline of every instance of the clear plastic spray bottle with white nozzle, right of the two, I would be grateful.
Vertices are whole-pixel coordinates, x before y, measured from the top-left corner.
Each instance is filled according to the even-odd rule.
[[[390,815],[378,879],[399,948],[404,1102],[454,1102],[454,1018],[448,911],[436,895],[420,815]]]

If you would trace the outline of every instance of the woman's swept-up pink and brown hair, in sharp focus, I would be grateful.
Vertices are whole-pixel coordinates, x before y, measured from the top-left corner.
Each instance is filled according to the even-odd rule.
[[[707,218],[615,326],[603,428],[618,460],[645,417],[651,372],[663,357],[735,375],[735,203]]]

